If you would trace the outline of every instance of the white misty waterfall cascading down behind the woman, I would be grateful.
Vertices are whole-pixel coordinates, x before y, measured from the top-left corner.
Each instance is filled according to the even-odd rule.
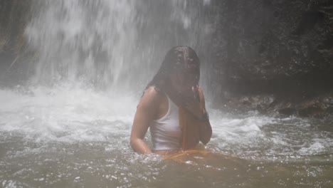
[[[31,83],[84,82],[140,90],[172,46],[206,49],[210,1],[34,1],[26,28]],[[201,51],[207,54],[206,51]]]

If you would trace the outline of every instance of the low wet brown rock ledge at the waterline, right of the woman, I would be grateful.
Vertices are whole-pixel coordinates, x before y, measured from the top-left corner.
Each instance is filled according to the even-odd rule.
[[[224,108],[233,113],[256,110],[260,113],[280,113],[302,117],[326,117],[333,115],[333,93],[295,100],[275,98],[274,95],[242,95],[228,98]]]

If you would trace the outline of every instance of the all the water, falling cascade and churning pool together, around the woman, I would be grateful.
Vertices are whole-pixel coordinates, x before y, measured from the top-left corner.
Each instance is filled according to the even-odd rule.
[[[137,103],[166,50],[205,51],[211,23],[193,10],[210,1],[32,2],[31,77],[0,88],[0,187],[333,187],[332,117],[211,108],[205,63],[211,153],[163,160],[130,148]]]

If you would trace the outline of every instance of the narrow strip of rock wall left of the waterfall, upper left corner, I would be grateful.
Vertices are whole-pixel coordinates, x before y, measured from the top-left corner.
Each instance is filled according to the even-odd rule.
[[[21,62],[26,38],[24,30],[31,19],[31,1],[0,1],[0,83],[20,80],[26,65]],[[18,63],[20,62],[20,63]]]

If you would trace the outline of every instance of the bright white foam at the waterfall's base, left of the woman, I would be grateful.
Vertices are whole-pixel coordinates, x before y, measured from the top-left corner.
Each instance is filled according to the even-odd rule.
[[[103,140],[105,134],[126,133],[137,99],[96,92],[78,85],[56,88],[0,90],[0,130],[38,135],[43,140]]]

